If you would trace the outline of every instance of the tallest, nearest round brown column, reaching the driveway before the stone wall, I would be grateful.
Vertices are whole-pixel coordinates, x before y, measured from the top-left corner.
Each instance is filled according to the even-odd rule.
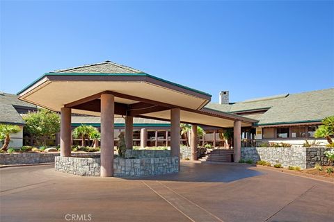
[[[113,176],[114,96],[101,95],[101,171],[100,176]]]

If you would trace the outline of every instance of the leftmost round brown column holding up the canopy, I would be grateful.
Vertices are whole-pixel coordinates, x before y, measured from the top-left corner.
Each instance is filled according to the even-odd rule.
[[[61,108],[61,156],[71,156],[71,108]]]

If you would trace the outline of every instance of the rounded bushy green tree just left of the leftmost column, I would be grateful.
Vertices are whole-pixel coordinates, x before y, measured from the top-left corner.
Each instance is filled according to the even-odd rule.
[[[26,122],[24,130],[38,145],[46,145],[47,138],[53,137],[61,130],[61,118],[51,110],[39,109],[37,112],[29,112],[23,119]]]

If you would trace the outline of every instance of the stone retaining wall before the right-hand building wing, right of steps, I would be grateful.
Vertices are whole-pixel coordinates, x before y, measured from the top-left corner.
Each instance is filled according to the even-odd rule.
[[[271,164],[282,164],[283,167],[301,167],[301,169],[315,167],[316,163],[328,165],[324,155],[324,147],[242,147],[241,159],[264,160]]]

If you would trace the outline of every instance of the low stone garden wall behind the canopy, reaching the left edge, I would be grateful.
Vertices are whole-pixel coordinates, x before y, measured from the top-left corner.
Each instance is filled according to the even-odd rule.
[[[0,164],[40,164],[54,162],[60,153],[0,153]],[[72,156],[93,157],[100,153],[72,153]]]

